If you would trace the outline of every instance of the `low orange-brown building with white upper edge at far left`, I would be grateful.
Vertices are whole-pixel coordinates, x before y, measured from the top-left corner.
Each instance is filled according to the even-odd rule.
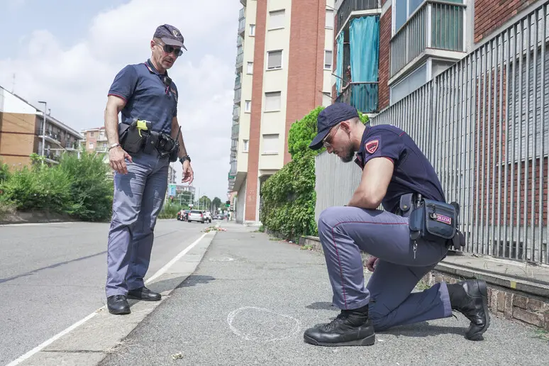
[[[82,135],[0,87],[0,162],[12,169],[30,165],[30,155],[58,164],[62,153],[77,153]]]

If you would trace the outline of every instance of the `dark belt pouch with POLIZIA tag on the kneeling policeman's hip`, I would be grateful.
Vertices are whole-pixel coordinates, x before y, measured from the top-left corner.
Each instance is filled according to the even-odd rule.
[[[410,215],[411,240],[452,240],[457,231],[457,209],[453,204],[421,199]]]

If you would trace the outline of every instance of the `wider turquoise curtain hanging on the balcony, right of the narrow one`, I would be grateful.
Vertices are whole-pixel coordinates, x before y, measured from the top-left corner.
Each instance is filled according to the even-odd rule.
[[[354,18],[349,27],[350,67],[353,82],[377,82],[379,16]],[[355,84],[351,104],[362,112],[377,109],[377,84]]]

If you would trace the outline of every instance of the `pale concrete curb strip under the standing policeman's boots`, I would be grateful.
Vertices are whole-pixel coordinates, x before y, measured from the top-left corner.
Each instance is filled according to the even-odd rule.
[[[189,250],[182,258],[173,262],[162,275],[155,277],[151,285],[162,294],[160,301],[135,301],[128,300],[131,306],[131,314],[113,316],[109,314],[106,306],[101,307],[90,314],[89,320],[53,341],[38,353],[30,356],[18,365],[26,366],[57,366],[78,365],[96,366],[104,358],[116,353],[117,350],[132,347],[124,339],[145,320],[145,318],[160,306],[179,284],[192,275],[196,267],[206,254],[216,231],[204,235],[194,248]],[[153,277],[151,277],[153,278]]]

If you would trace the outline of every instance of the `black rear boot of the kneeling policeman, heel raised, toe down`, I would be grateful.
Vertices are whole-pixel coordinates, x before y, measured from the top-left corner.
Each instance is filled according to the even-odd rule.
[[[486,282],[470,279],[447,286],[452,310],[459,311],[471,321],[465,338],[482,340],[482,333],[490,326]]]

